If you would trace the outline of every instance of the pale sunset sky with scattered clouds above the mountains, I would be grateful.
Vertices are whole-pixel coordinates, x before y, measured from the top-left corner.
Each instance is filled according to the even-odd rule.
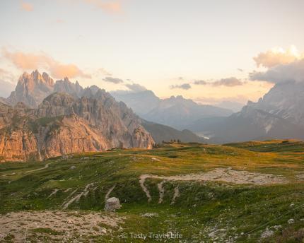
[[[108,91],[256,101],[276,83],[258,73],[303,58],[303,9],[303,0],[1,0],[0,95],[38,69]]]

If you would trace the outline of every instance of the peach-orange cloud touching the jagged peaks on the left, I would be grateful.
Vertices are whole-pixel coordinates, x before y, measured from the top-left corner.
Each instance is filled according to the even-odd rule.
[[[24,70],[45,69],[49,71],[54,78],[91,78],[87,73],[83,73],[75,64],[62,64],[54,60],[47,54],[41,52],[38,54],[25,52],[8,52],[7,49],[2,49],[2,54],[6,59],[11,61],[16,68]]]

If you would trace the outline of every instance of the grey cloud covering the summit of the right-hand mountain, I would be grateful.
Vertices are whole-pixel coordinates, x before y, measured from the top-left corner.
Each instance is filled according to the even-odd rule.
[[[252,81],[267,81],[269,83],[303,82],[304,59],[290,64],[280,64],[267,71],[250,73]]]

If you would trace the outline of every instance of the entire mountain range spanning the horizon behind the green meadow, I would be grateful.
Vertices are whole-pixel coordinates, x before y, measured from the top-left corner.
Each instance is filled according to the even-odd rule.
[[[152,148],[170,140],[304,139],[304,84],[299,82],[278,83],[235,113],[182,96],[162,100],[151,90],[112,95],[68,78],[54,82],[47,73],[23,73],[16,90],[0,98],[0,160]]]

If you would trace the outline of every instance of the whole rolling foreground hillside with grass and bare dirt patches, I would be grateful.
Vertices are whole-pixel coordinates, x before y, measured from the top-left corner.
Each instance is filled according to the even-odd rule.
[[[24,242],[25,231],[31,242],[144,242],[129,240],[134,229],[182,235],[166,242],[302,242],[303,153],[285,146],[165,143],[1,163],[0,233],[3,242]],[[104,212],[108,197],[119,198],[117,212]]]

